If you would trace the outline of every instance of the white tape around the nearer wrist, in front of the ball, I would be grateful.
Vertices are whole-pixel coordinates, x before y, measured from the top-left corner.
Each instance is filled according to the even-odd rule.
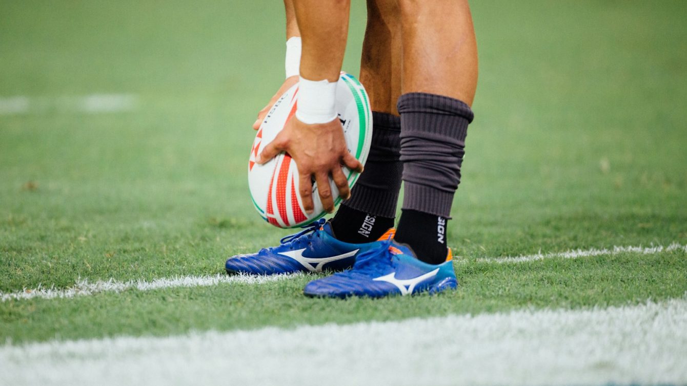
[[[308,125],[336,119],[337,83],[300,77],[296,118]]]

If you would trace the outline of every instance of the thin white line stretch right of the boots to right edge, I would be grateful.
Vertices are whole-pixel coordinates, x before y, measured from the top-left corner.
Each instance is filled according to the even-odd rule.
[[[611,249],[591,249],[591,250],[570,250],[567,252],[555,252],[549,254],[532,254],[530,256],[508,256],[508,257],[486,257],[477,258],[477,261],[488,262],[488,263],[525,263],[527,261],[537,261],[546,258],[580,258],[580,257],[593,257],[602,256],[609,254],[620,254],[620,253],[635,253],[635,254],[657,254],[660,252],[672,252],[680,250],[682,252],[687,252],[687,245],[680,245],[678,243],[672,243],[667,247],[662,245],[652,246],[652,247],[613,247]]]

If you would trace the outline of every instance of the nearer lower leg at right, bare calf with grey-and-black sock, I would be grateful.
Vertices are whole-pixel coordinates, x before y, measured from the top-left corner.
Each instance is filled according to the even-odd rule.
[[[401,160],[405,182],[396,241],[420,260],[447,256],[446,229],[473,119],[477,45],[466,0],[398,1],[403,32]]]

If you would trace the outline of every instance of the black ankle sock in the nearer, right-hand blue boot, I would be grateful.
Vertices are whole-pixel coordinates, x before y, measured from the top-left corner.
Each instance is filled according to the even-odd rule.
[[[441,264],[449,252],[446,246],[446,217],[403,209],[394,240],[407,244],[420,261]]]

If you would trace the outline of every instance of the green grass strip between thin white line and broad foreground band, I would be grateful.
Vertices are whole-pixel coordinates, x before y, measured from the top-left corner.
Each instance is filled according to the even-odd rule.
[[[262,285],[218,285],[101,293],[73,299],[0,303],[0,341],[167,335],[206,329],[293,327],[482,313],[523,307],[581,308],[679,298],[687,289],[687,255],[618,254],[532,263],[456,264],[459,291],[381,300],[311,299],[300,276]],[[36,328],[36,326],[41,326]]]

